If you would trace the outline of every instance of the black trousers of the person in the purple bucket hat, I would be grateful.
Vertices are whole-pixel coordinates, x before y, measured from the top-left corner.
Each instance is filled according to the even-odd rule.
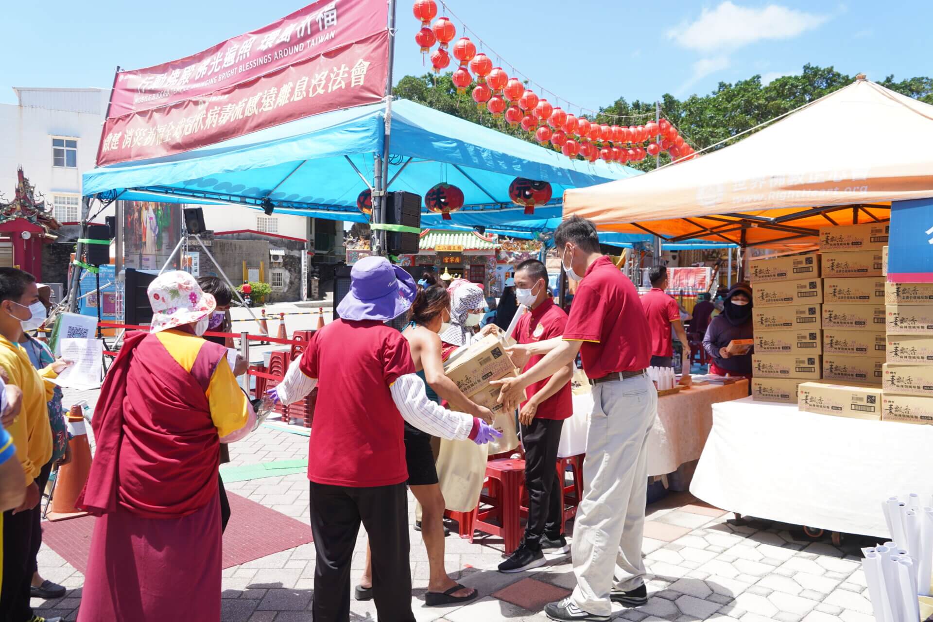
[[[314,622],[350,619],[350,562],[361,522],[372,550],[376,617],[379,622],[414,622],[405,484],[350,488],[311,482]]]

